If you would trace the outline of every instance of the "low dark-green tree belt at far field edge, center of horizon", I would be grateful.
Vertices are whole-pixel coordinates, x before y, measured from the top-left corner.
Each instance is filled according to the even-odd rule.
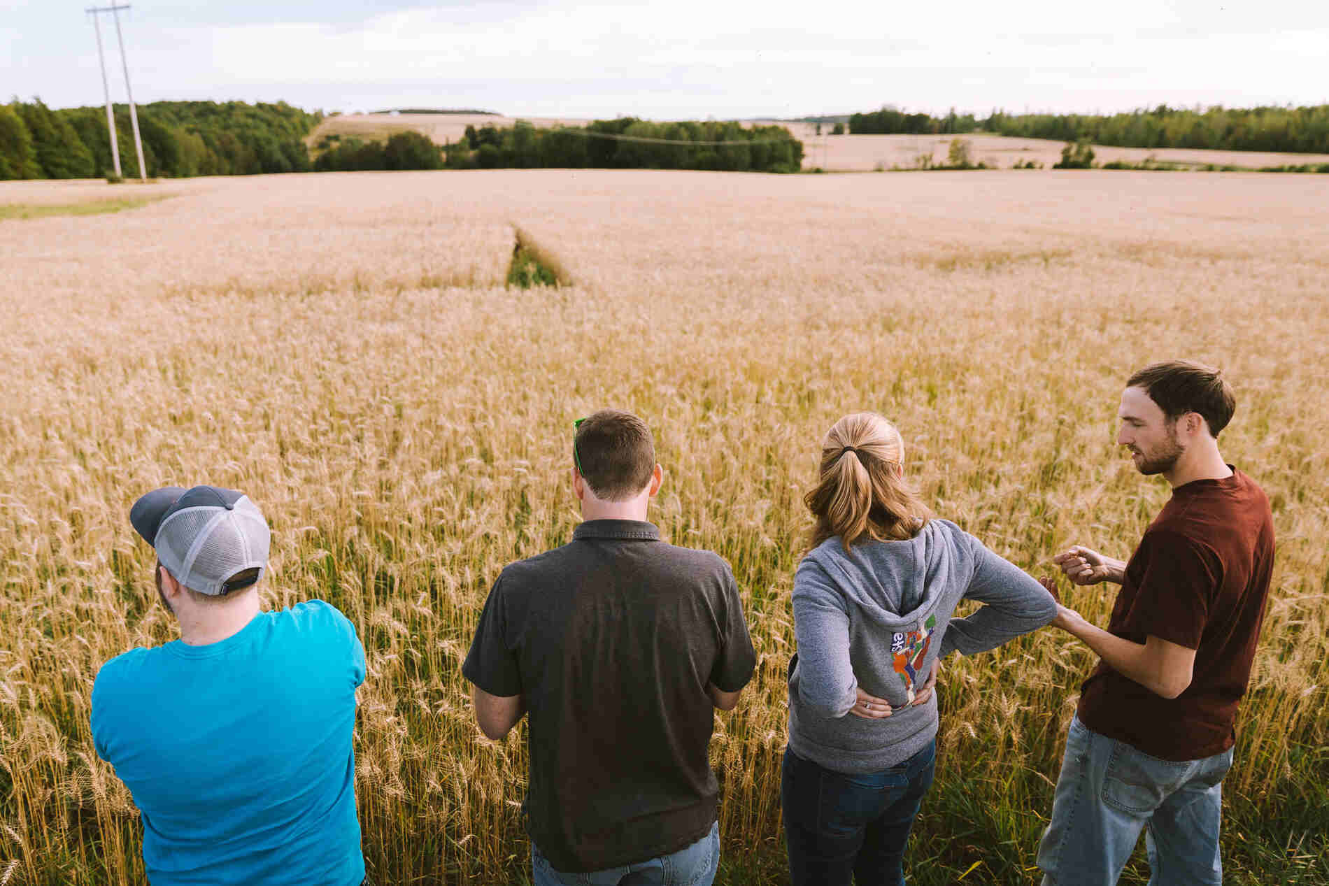
[[[518,120],[509,128],[468,126],[465,138],[445,146],[444,155],[449,169],[796,173],[803,165],[803,142],[783,126],[744,128],[732,121],[658,124],[621,117],[587,126],[536,129]]]

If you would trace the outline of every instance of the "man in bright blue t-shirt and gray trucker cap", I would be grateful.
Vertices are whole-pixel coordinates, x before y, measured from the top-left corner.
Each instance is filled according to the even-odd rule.
[[[129,519],[181,639],[101,667],[92,735],[142,813],[148,879],[360,883],[355,627],[322,600],[259,611],[268,529],[242,493],[169,486]]]

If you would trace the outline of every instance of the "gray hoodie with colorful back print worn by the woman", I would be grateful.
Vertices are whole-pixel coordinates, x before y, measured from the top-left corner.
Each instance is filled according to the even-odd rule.
[[[986,606],[953,619],[962,599]],[[1055,616],[1051,594],[950,521],[929,521],[909,541],[859,542],[849,554],[839,535],[828,538],[793,576],[789,748],[844,773],[908,760],[937,735],[936,693],[912,704],[934,659],[985,652]],[[851,716],[859,685],[892,715]]]

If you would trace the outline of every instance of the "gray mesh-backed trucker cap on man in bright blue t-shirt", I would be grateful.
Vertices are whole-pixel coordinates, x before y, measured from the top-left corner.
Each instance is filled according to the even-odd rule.
[[[267,521],[245,493],[217,486],[163,486],[129,509],[129,522],[185,587],[221,596],[254,584],[237,573],[267,571]]]

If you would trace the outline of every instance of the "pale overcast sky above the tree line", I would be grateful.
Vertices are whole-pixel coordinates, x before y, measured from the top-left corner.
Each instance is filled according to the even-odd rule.
[[[86,0],[0,0],[0,100],[102,101]],[[532,117],[1329,104],[1329,3],[133,0],[134,98]],[[112,94],[125,81],[102,16]]]

